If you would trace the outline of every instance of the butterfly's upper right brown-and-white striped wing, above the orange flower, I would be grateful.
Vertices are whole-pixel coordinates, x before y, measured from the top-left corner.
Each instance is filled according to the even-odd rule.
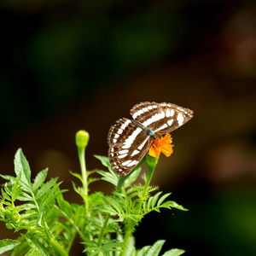
[[[193,117],[189,108],[166,102],[142,102],[131,108],[130,113],[133,119],[159,135],[176,130]]]

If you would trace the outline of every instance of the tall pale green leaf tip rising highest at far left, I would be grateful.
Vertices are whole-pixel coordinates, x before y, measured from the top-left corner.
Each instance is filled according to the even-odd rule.
[[[24,189],[31,188],[31,171],[26,160],[25,155],[22,153],[21,148],[17,150],[15,154],[15,173],[18,176],[21,172],[21,182],[24,186]]]

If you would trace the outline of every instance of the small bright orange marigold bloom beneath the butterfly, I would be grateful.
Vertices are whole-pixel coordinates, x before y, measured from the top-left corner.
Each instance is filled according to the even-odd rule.
[[[170,133],[167,133],[165,137],[160,136],[156,140],[152,140],[148,154],[153,157],[159,157],[160,153],[170,156],[173,152],[171,143],[172,137]]]

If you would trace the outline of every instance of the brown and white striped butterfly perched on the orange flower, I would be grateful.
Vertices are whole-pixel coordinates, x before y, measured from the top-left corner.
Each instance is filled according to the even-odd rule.
[[[113,171],[126,176],[148,153],[151,140],[176,130],[193,117],[189,108],[172,103],[141,102],[132,119],[119,119],[108,132],[108,158]]]

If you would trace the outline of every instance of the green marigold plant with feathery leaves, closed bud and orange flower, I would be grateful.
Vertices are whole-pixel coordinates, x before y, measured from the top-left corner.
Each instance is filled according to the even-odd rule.
[[[73,183],[74,191],[81,196],[83,204],[70,203],[65,199],[67,189],[60,189],[58,178],[47,179],[47,169],[31,179],[31,169],[18,149],[15,154],[15,177],[1,175],[7,182],[3,185],[0,200],[0,220],[10,230],[19,234],[17,239],[0,241],[0,254],[10,251],[15,255],[63,255],[72,250],[73,241],[79,236],[84,244],[84,255],[100,256],[153,256],[160,255],[163,240],[141,249],[135,247],[133,235],[137,225],[149,212],[160,212],[161,208],[185,208],[174,201],[166,201],[171,193],[163,194],[158,187],[150,186],[160,153],[172,154],[172,137],[166,134],[152,141],[148,154],[141,163],[125,177],[113,172],[107,157],[96,155],[96,159],[107,167],[88,171],[85,164],[85,148],[89,133],[79,131],[76,143],[79,152],[81,174],[71,172],[79,179]],[[146,161],[148,174],[143,174],[143,184],[137,183],[141,165]],[[90,183],[101,180],[113,185],[113,195],[101,191],[89,193]],[[171,249],[164,256],[177,256],[183,250]]]

